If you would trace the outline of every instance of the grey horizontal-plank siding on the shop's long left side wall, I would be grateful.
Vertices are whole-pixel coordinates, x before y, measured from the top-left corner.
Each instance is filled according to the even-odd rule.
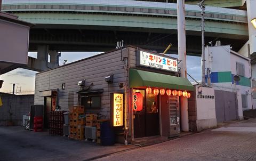
[[[129,64],[134,67],[135,49],[129,47],[129,51]],[[78,81],[85,79],[86,86],[93,83],[91,90],[103,88],[100,112],[108,118],[110,111],[109,93],[123,91],[119,88],[118,83],[125,84],[126,80],[124,61],[121,60],[121,55],[124,52],[127,50],[123,49],[122,53],[121,50],[117,50],[36,74],[34,103],[44,103],[43,97],[39,96],[39,91],[59,88],[59,106],[62,110],[68,110],[69,107],[77,104]],[[111,74],[114,75],[114,83],[108,84],[105,82],[105,77]],[[61,90],[62,83],[66,84],[65,90]]]

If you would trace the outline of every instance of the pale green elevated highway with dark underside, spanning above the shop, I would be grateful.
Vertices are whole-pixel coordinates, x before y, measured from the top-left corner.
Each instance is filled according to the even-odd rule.
[[[131,0],[3,0],[2,11],[35,23],[29,51],[107,51],[116,42],[177,52],[177,5]],[[248,40],[246,11],[206,7],[205,42],[220,40],[238,51]],[[187,52],[201,54],[201,9],[186,5]]]

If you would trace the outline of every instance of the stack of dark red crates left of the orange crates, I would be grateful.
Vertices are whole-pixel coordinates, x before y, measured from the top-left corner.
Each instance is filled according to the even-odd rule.
[[[50,111],[49,134],[63,136],[63,112],[65,111]]]

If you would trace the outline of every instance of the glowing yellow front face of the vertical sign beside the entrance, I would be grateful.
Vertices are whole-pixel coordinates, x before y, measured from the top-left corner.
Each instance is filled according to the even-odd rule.
[[[113,126],[123,126],[124,95],[114,93],[113,99]]]

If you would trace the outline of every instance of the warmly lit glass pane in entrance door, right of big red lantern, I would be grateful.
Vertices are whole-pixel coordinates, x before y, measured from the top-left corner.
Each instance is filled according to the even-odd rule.
[[[158,113],[157,95],[147,94],[146,106],[147,106],[147,113]]]

